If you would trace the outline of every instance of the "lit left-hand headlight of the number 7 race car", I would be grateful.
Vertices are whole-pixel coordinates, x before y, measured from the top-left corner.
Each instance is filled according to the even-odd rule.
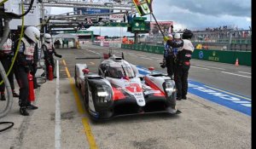
[[[96,88],[96,101],[98,104],[106,104],[112,100],[112,90],[109,88],[108,85],[98,86]]]

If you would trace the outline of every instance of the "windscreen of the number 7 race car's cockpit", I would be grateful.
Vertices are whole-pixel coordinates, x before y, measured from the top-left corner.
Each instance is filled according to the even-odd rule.
[[[131,66],[110,66],[108,68],[108,77],[122,78],[122,77],[135,77]]]

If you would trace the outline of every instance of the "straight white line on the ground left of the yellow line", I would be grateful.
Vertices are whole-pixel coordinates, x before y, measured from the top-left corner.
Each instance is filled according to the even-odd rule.
[[[56,61],[56,96],[55,96],[55,149],[61,149],[61,104],[59,60]]]

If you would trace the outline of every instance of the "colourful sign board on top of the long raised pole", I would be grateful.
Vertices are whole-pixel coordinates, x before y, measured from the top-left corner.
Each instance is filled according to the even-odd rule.
[[[152,0],[133,0],[133,3],[141,16],[151,13]]]

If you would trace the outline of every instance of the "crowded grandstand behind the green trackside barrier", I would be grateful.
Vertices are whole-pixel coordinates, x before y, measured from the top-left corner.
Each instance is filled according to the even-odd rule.
[[[192,43],[195,47],[201,44],[203,49],[252,51],[251,30],[238,30],[224,26],[193,31],[193,33]],[[161,45],[163,37],[160,34],[154,37],[147,36],[141,44]]]

